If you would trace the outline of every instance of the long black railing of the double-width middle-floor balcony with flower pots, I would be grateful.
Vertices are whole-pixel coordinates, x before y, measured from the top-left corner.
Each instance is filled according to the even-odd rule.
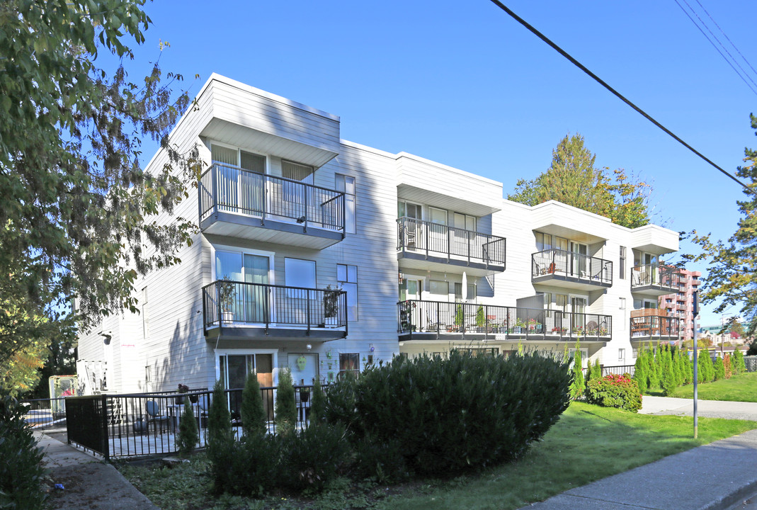
[[[612,316],[515,306],[407,300],[397,303],[400,334],[484,333],[534,339],[612,338]]]

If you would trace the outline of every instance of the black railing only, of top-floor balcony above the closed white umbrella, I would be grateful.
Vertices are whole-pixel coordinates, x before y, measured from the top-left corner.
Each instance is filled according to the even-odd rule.
[[[504,266],[505,238],[403,216],[397,219],[397,250],[461,257]]]

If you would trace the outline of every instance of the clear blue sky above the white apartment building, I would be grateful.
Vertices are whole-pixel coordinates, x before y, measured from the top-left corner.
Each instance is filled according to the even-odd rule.
[[[757,68],[757,3],[687,1]],[[735,172],[744,148],[757,147],[757,95],[674,0],[504,3],[724,169]],[[656,222],[719,238],[736,228],[738,185],[487,0],[155,2],[145,11],[153,25],[127,64],[132,79],[162,39],[161,66],[185,75],[193,94],[220,73],[340,116],[344,139],[497,179],[506,191],[547,169],[560,138],[579,132],[598,166],[653,184]],[[718,321],[705,309],[700,324]]]

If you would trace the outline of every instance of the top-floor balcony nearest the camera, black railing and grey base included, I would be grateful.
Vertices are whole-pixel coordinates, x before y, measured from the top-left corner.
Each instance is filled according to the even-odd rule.
[[[344,193],[238,166],[202,174],[200,227],[208,234],[322,249],[344,239]]]

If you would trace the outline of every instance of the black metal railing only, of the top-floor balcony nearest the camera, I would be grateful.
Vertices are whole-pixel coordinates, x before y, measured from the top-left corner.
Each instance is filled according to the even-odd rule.
[[[306,228],[344,232],[341,191],[219,163],[200,178],[200,221],[217,211],[294,219]]]

